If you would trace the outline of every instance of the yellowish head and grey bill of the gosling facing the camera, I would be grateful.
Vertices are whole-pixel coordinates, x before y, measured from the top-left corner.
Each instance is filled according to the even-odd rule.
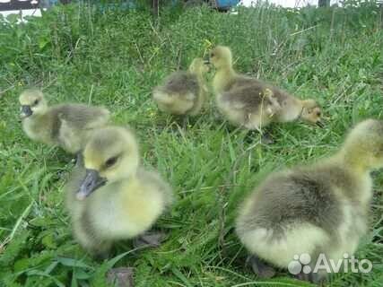
[[[139,164],[135,136],[124,127],[101,128],[86,143],[83,164],[86,172],[77,191],[79,200],[99,187],[135,176]]]

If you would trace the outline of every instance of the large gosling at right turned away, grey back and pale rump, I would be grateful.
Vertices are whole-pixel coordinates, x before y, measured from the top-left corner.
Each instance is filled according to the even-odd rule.
[[[335,155],[269,175],[239,208],[236,222],[254,272],[274,275],[263,260],[294,270],[294,259],[308,254],[311,274],[298,277],[325,280],[326,270],[313,272],[318,257],[337,263],[354,254],[367,232],[370,171],[382,167],[383,121],[368,119],[351,130]]]

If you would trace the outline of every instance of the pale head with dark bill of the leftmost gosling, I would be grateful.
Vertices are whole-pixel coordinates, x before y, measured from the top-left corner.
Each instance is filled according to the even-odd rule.
[[[19,101],[22,106],[20,111],[20,117],[22,118],[44,114],[48,109],[42,91],[37,89],[22,91]]]

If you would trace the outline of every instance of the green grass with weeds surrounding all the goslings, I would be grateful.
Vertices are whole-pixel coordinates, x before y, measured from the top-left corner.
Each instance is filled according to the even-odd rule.
[[[379,13],[370,4],[300,12],[257,6],[237,15],[173,8],[155,22],[144,11],[69,5],[28,24],[0,20],[0,285],[103,286],[114,265],[135,267],[136,286],[308,286],[283,272],[260,281],[245,269],[233,222],[268,172],[335,152],[355,122],[382,118]],[[210,43],[230,46],[242,73],[317,99],[326,128],[274,125],[276,143],[262,145],[222,122],[212,96],[182,129],[156,109],[152,87]],[[63,204],[73,161],[23,134],[17,99],[30,85],[51,103],[104,105],[116,123],[135,128],[144,165],[168,178],[177,196],[156,224],[169,236],[161,248],[98,262],[74,242]],[[373,271],[336,274],[331,286],[382,286],[383,177],[374,178],[370,232],[357,253],[375,263]],[[121,242],[115,256],[130,249]]]

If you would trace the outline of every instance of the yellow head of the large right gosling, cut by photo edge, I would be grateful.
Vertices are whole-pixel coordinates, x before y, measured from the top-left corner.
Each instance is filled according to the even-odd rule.
[[[383,168],[383,121],[367,119],[347,135],[345,158],[363,170]]]

